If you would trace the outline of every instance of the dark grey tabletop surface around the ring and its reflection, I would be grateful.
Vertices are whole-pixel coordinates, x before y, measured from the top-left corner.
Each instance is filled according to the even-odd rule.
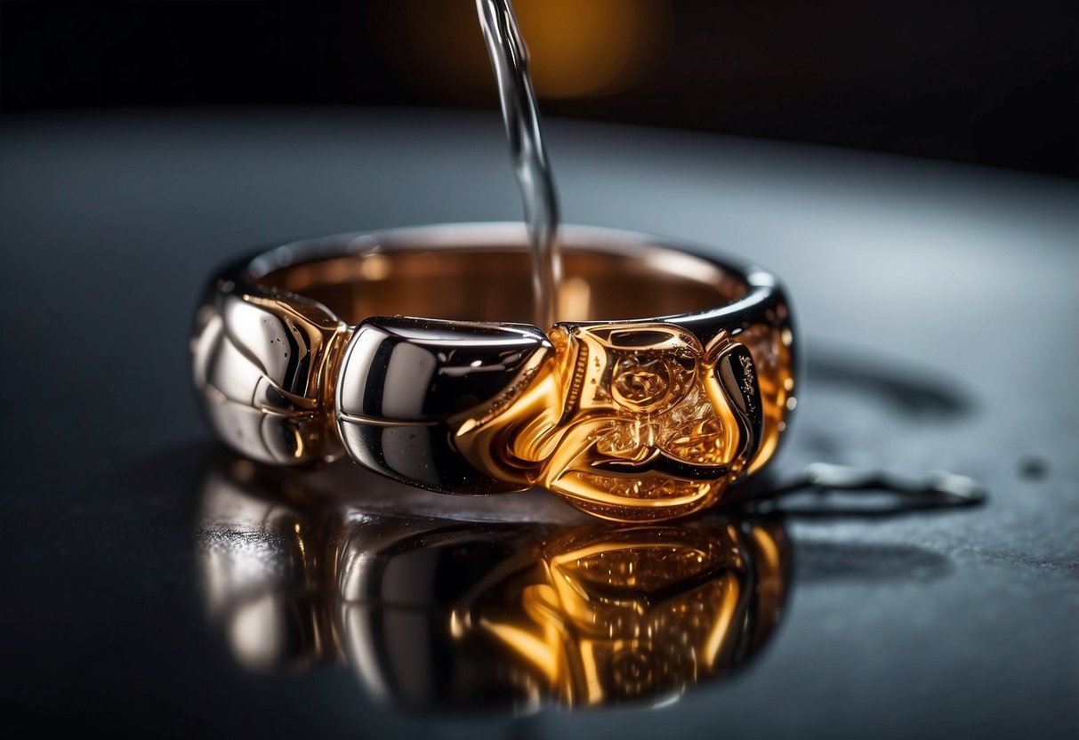
[[[552,121],[572,222],[784,277],[807,347],[778,463],[969,475],[979,509],[791,516],[779,626],[659,708],[406,711],[344,660],[248,671],[213,618],[191,311],[260,245],[514,220],[501,123],[175,110],[0,123],[5,724],[114,736],[1076,737],[1079,188]]]

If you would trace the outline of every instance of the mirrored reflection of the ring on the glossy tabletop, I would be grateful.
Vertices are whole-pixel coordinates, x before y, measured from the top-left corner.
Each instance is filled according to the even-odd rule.
[[[672,701],[752,658],[790,580],[777,518],[477,524],[365,512],[349,502],[393,493],[372,476],[343,499],[311,479],[226,457],[208,470],[207,611],[251,670],[344,662],[404,708]]]

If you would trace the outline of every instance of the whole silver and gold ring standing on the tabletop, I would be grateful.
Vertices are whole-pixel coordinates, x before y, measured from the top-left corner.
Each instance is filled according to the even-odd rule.
[[[331,236],[228,269],[192,340],[210,424],[262,462],[347,452],[429,490],[543,485],[610,519],[718,501],[794,406],[775,277],[627,232],[561,241],[576,320],[546,334],[505,323],[531,305],[509,225]]]

